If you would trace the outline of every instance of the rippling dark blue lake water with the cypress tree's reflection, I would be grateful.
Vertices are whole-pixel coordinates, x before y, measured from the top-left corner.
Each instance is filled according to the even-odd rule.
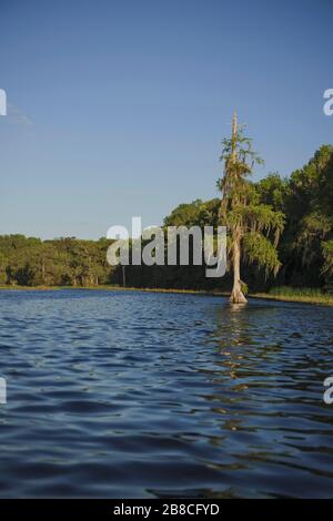
[[[0,292],[1,497],[333,497],[333,308]]]

